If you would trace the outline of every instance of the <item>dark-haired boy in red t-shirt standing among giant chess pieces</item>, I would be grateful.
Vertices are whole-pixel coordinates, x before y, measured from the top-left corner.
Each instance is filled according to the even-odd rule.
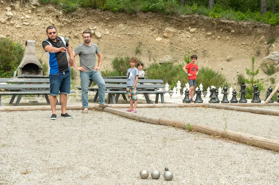
[[[198,60],[198,56],[192,55],[191,62],[182,68],[183,71],[186,72],[186,74],[188,75],[188,81],[190,86],[189,94],[191,98],[191,103],[194,103],[193,95],[194,95],[195,86],[197,84],[197,74],[199,73],[198,65],[195,64],[197,60]]]

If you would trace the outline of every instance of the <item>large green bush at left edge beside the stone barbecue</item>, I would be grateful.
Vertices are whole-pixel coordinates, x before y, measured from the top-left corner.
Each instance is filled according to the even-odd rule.
[[[14,43],[11,38],[0,39],[0,77],[10,78],[24,57],[21,43]]]

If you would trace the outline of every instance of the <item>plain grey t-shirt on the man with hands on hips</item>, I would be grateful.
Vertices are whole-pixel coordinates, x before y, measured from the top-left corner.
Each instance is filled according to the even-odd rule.
[[[84,72],[94,71],[96,64],[95,54],[100,52],[99,47],[96,44],[91,43],[91,46],[85,45],[85,43],[79,44],[74,52],[79,55],[79,66],[86,67]]]

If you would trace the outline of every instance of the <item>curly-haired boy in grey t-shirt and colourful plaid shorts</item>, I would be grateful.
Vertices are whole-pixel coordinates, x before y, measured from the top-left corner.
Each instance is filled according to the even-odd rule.
[[[130,109],[126,110],[128,112],[136,113],[137,103],[138,103],[138,78],[139,78],[139,70],[135,67],[135,65],[138,63],[138,59],[133,56],[129,59],[131,68],[127,71],[127,94],[128,99],[130,99]],[[133,103],[134,103],[134,109],[133,109]]]

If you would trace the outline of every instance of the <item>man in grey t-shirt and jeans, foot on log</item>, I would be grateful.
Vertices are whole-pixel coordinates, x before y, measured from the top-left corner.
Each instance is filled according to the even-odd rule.
[[[99,87],[99,107],[109,107],[105,104],[105,81],[98,70],[101,68],[103,62],[103,56],[96,44],[91,43],[92,34],[91,31],[84,31],[83,34],[84,43],[79,44],[73,51],[74,57],[79,55],[79,66],[74,62],[74,67],[80,71],[81,81],[81,102],[84,110],[82,113],[88,113],[88,85],[89,78]],[[96,64],[95,54],[99,57],[98,65]]]

